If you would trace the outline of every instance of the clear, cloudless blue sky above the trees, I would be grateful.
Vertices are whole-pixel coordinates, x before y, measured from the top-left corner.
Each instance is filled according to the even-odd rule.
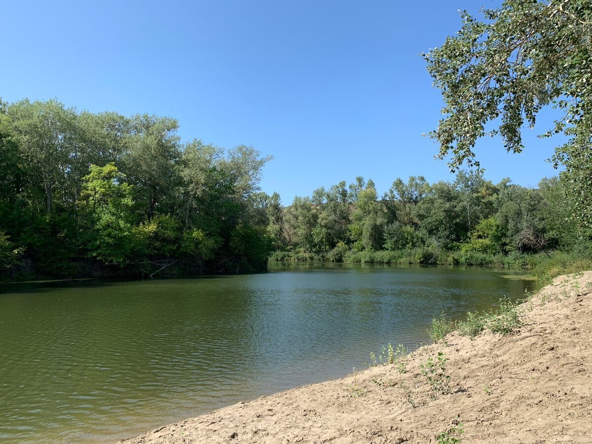
[[[147,112],[179,120],[184,140],[271,154],[263,191],[284,204],[356,176],[380,194],[392,181],[452,180],[422,133],[441,96],[420,52],[478,17],[493,0],[53,1],[2,5],[0,96],[58,98],[79,110]],[[485,176],[536,186],[555,175],[540,140],[545,112],[524,131],[526,149],[499,139],[475,152]]]

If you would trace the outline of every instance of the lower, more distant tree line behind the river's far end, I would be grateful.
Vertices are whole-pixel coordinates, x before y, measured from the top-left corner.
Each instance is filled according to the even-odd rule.
[[[358,177],[295,197],[284,211],[275,204],[272,258],[486,265],[558,249],[589,252],[591,231],[571,217],[567,190],[557,177],[526,188],[461,170],[434,184],[397,178],[379,196],[372,180]]]

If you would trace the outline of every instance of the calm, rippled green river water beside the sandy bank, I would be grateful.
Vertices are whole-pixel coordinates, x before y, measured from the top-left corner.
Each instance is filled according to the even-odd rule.
[[[520,297],[494,271],[271,264],[266,274],[0,287],[0,441],[112,442],[342,377],[432,317]]]

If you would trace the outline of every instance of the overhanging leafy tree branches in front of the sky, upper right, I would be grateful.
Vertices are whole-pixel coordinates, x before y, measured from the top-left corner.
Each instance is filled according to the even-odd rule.
[[[571,136],[554,163],[565,166],[574,217],[591,224],[592,2],[506,0],[485,9],[483,21],[466,11],[461,17],[455,36],[423,54],[444,99],[445,117],[430,133],[437,157],[452,153],[451,170],[465,160],[479,168],[473,149],[485,134],[499,134],[507,151],[519,153],[523,124],[533,127],[540,109],[555,104],[561,116],[543,136]]]

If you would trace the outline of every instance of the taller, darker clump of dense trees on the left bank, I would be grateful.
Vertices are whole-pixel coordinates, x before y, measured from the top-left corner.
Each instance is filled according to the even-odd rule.
[[[170,117],[0,104],[5,278],[265,269],[269,157],[182,143]]]

